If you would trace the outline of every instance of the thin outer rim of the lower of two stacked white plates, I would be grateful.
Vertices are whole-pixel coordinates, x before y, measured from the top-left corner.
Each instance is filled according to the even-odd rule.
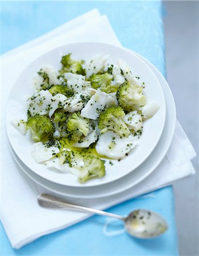
[[[29,176],[29,177],[30,177],[32,180],[34,180],[36,183],[42,185],[42,187],[45,187],[46,189],[48,189],[48,190],[50,190],[50,191],[52,191],[52,192],[54,192],[54,193],[56,193],[56,194],[59,194],[59,195],[68,196],[68,197],[72,197],[72,198],[81,198],[81,199],[94,199],[94,198],[97,199],[97,198],[100,198],[100,197],[106,197],[106,196],[111,196],[111,195],[117,195],[118,193],[124,192],[124,191],[126,191],[127,189],[130,189],[130,188],[134,187],[135,185],[139,184],[141,181],[143,181],[144,179],[146,179],[146,177],[149,176],[149,175],[156,169],[157,166],[159,166],[161,160],[163,160],[165,154],[167,154],[167,151],[168,151],[169,146],[171,145],[171,142],[172,142],[172,139],[173,139],[173,134],[174,134],[174,132],[175,132],[175,124],[176,124],[176,106],[175,106],[175,101],[174,101],[174,98],[173,98],[171,89],[169,88],[169,85],[168,85],[167,81],[164,79],[163,75],[161,75],[161,73],[159,72],[159,70],[158,70],[152,63],[150,63],[150,61],[148,61],[147,59],[145,59],[143,56],[139,55],[138,53],[135,53],[135,54],[137,54],[137,55],[138,55],[139,57],[141,57],[144,61],[146,61],[146,63],[147,63],[148,65],[150,65],[150,68],[153,68],[153,69],[155,70],[155,72],[161,77],[161,79],[163,80],[163,82],[164,82],[164,84],[165,84],[165,85],[164,85],[165,88],[167,88],[167,90],[168,90],[167,93],[169,93],[169,97],[171,97],[170,100],[172,100],[172,105],[173,105],[173,122],[172,122],[172,127],[170,127],[170,130],[171,130],[171,133],[169,133],[169,134],[170,134],[170,138],[169,138],[169,140],[168,140],[167,146],[165,146],[165,148],[164,148],[164,153],[161,154],[161,156],[159,157],[159,160],[157,161],[156,165],[155,165],[154,167],[152,167],[151,170],[146,173],[146,175],[142,176],[142,178],[138,179],[137,181],[134,182],[134,184],[129,185],[128,187],[123,186],[123,189],[120,189],[119,191],[112,191],[112,192],[109,192],[109,193],[104,193],[104,194],[102,194],[102,195],[93,195],[93,194],[91,194],[92,196],[90,196],[90,195],[89,195],[89,196],[88,196],[88,195],[87,195],[87,196],[85,196],[85,195],[82,196],[81,193],[80,193],[80,195],[73,195],[73,194],[71,194],[71,193],[65,193],[65,192],[57,191],[56,189],[52,189],[51,187],[48,187],[48,186],[43,185],[42,183],[38,182],[38,181],[35,180],[30,174],[28,174],[26,171],[24,171],[23,168],[22,168],[22,170],[25,172],[25,174],[26,174],[27,176]],[[166,118],[167,118],[167,117],[166,117]],[[163,132],[164,132],[164,131],[163,131]],[[13,154],[15,154],[14,151],[12,152],[12,155],[13,155]],[[14,157],[14,156],[13,156],[13,157]],[[19,160],[20,160],[20,159],[19,159]],[[17,164],[18,164],[18,162],[17,162]],[[32,172],[31,170],[30,170],[30,172],[31,172],[33,175],[36,175],[36,174],[35,174],[34,172]],[[128,175],[132,175],[132,172],[131,172],[130,174],[128,174]],[[41,177],[40,177],[39,175],[36,175],[36,176],[38,176],[38,179],[41,179]],[[125,177],[127,177],[127,175],[126,175]],[[125,178],[125,177],[124,177],[124,178]],[[49,184],[52,183],[51,181],[48,181],[48,180],[45,180],[45,179],[44,179],[44,181],[47,182],[47,183],[49,183]],[[55,185],[59,186],[59,184],[56,184],[56,183],[55,183]],[[69,187],[69,189],[70,189],[70,188],[71,188],[71,187]],[[80,188],[78,188],[78,189],[80,189]],[[90,188],[90,189],[92,189],[92,188]]]

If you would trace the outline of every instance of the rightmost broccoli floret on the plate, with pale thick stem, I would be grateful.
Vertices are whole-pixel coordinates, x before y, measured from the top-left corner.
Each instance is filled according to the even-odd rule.
[[[134,105],[146,104],[146,97],[142,94],[142,90],[131,85],[130,82],[124,82],[119,86],[116,97],[119,106],[128,112],[134,110]]]

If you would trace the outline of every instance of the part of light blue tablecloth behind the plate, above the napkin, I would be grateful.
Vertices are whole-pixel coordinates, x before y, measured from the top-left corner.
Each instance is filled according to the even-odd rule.
[[[146,57],[165,75],[159,1],[2,2],[2,53],[95,8],[108,16],[123,46]]]

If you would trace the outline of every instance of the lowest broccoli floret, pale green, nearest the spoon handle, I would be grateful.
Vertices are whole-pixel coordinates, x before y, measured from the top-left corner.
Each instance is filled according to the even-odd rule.
[[[84,170],[80,172],[78,180],[81,183],[85,183],[95,177],[103,176],[105,176],[105,166],[103,161],[95,156],[86,156],[84,158]]]

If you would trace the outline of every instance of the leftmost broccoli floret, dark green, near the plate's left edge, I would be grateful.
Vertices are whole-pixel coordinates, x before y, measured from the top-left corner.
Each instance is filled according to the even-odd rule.
[[[36,142],[47,141],[52,137],[55,127],[51,119],[45,115],[36,114],[27,119],[27,127],[32,133],[32,139]]]

